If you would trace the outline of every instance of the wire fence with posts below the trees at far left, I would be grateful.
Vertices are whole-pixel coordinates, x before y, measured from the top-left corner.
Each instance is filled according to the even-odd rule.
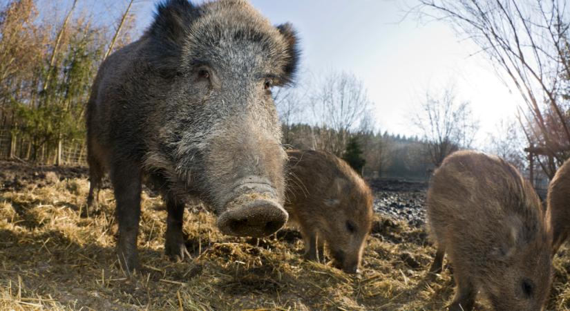
[[[61,161],[59,164],[85,166],[86,146],[84,142],[61,142]],[[0,130],[0,159],[17,159],[52,165],[57,162],[58,147],[47,144],[35,144],[30,138],[13,135],[11,131]]]

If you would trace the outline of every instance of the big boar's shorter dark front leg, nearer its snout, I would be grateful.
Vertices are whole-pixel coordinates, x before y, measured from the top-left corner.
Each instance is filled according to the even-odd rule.
[[[173,261],[181,261],[190,258],[190,254],[184,244],[182,234],[182,219],[184,216],[184,202],[177,200],[172,195],[167,195],[167,236],[164,244],[164,252]]]

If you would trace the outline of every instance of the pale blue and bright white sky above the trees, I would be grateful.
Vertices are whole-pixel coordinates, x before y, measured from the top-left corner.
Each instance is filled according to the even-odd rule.
[[[83,1],[83,10],[107,19],[117,19],[117,12],[126,7],[126,0]],[[345,70],[361,79],[374,102],[377,130],[419,133],[410,122],[419,100],[426,91],[437,93],[453,84],[458,100],[471,102],[481,126],[477,140],[482,142],[487,133],[495,131],[497,122],[514,116],[520,97],[497,77],[484,53],[477,53],[477,46],[455,35],[447,23],[406,15],[413,1],[251,3],[272,23],[289,21],[294,25],[301,38],[302,73]],[[157,2],[135,1],[132,10],[138,29],[149,26]]]

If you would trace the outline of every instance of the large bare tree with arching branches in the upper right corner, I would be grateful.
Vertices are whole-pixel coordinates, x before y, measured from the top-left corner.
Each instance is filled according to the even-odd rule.
[[[420,0],[471,38],[524,100],[521,123],[530,144],[559,164],[570,150],[561,91],[570,78],[569,10],[560,0]],[[431,9],[431,10],[430,10]],[[566,88],[567,89],[567,88]],[[548,172],[549,175],[553,172]]]

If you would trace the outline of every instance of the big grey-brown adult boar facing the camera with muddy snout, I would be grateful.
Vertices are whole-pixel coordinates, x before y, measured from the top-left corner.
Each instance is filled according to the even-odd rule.
[[[99,68],[88,102],[88,205],[110,173],[117,252],[137,267],[143,176],[167,205],[166,253],[184,257],[182,198],[216,209],[234,236],[267,236],[287,221],[285,151],[272,86],[292,81],[296,35],[242,0],[169,0],[137,41]]]

